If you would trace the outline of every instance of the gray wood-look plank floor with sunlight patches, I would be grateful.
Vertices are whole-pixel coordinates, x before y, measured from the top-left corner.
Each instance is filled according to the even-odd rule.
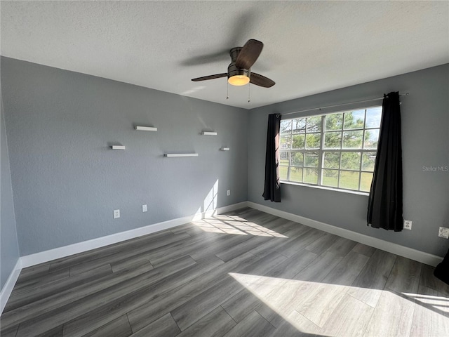
[[[22,270],[1,336],[449,336],[433,267],[254,209]]]

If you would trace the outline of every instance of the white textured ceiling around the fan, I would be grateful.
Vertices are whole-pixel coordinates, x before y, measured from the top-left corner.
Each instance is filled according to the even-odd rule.
[[[1,1],[1,55],[253,108],[449,62],[448,1]],[[264,43],[272,88],[192,82]],[[400,88],[398,88],[400,89]],[[227,90],[229,99],[227,100]]]

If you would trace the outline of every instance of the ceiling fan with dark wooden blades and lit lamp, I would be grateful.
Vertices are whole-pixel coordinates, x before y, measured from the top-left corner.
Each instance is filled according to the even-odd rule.
[[[262,42],[250,39],[243,47],[234,47],[229,51],[231,55],[231,64],[227,67],[227,72],[203,77],[197,77],[192,81],[206,81],[207,79],[219,79],[227,77],[229,84],[233,86],[244,86],[248,82],[256,86],[270,88],[274,86],[274,81],[255,72],[251,72],[251,67],[262,52],[264,44]]]

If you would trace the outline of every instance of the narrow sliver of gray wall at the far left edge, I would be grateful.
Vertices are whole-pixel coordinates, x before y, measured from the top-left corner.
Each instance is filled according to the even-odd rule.
[[[8,145],[4,123],[3,100],[0,90],[0,289],[13,272],[19,259],[19,246],[13,206],[13,188],[9,168]]]

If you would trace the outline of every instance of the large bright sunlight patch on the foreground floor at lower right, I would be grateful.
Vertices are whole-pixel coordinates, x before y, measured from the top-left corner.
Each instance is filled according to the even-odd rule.
[[[229,275],[260,300],[257,312],[275,326],[286,321],[319,336],[422,336],[422,326],[427,326],[431,334],[426,336],[449,336],[449,299],[444,296]]]

